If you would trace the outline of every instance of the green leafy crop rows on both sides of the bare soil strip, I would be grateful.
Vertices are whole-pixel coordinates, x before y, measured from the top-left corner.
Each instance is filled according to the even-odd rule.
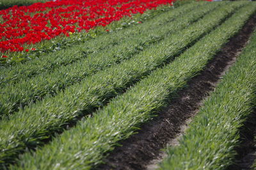
[[[0,169],[95,169],[106,163],[255,13],[256,3],[248,1],[180,3],[140,15],[141,24],[4,66]],[[160,169],[234,164],[239,128],[256,104],[255,47],[256,32],[202,101],[179,146],[164,148]]]

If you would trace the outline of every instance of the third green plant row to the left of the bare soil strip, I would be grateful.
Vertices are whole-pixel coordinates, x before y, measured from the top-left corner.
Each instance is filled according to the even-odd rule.
[[[154,43],[161,42],[164,37],[188,27],[189,24],[211,12],[216,6],[218,4],[205,4],[198,7],[195,12],[179,17],[173,22],[166,22],[166,24],[156,28],[145,25],[144,29],[140,30],[134,27],[139,35],[125,36],[118,45],[109,45],[106,49],[97,50],[81,61],[72,65],[61,66],[54,72],[44,72],[31,79],[20,79],[18,84],[8,84],[1,89],[0,114],[10,114],[17,111],[19,107],[28,105],[29,102],[41,100],[47,94],[54,96],[58,91],[82,81],[99,70],[104,70],[104,68],[122,63],[130,58],[137,58],[136,54],[140,55],[143,50],[150,49]],[[172,14],[177,17],[176,14],[180,14],[180,11],[183,12],[182,9],[178,8],[173,10]],[[166,17],[164,17],[165,19]],[[82,53],[81,49],[76,50]]]

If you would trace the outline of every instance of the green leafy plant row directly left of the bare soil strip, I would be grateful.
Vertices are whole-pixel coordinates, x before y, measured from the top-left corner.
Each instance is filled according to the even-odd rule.
[[[212,16],[211,20],[209,20],[208,17],[210,15],[208,15],[201,20],[202,22],[199,21],[196,24],[201,24],[201,29],[204,29],[207,24],[214,22],[214,20],[220,20],[221,15],[222,17],[227,17],[228,12],[225,12],[225,9],[228,8],[230,8],[230,6],[223,6],[220,10],[214,11],[216,16]],[[36,152],[25,153],[20,157],[18,164],[10,167],[10,169],[90,169],[99,165],[102,163],[102,158],[106,156],[108,151],[113,150],[118,141],[126,139],[140,127],[141,123],[150,120],[150,118],[154,116],[154,112],[159,111],[164,105],[168,104],[170,98],[175,97],[177,91],[186,86],[189,79],[204,70],[208,61],[221,50],[221,47],[223,47],[239,29],[241,29],[244,22],[246,22],[255,11],[255,3],[248,4],[236,10],[236,13],[234,13],[230,19],[226,20],[220,27],[217,27],[214,31],[196,42],[195,45],[186,50],[172,63],[163,66],[163,68],[158,68],[148,77],[129,88],[124,95],[113,98],[106,107],[94,112],[92,116],[79,121],[76,127],[66,130],[60,137],[54,138],[50,144],[47,144],[40,150],[36,150]],[[195,32],[200,30],[195,29],[194,26],[191,27],[193,27]],[[189,29],[187,31],[189,32]],[[180,40],[182,40],[182,38],[180,38]],[[250,64],[249,66],[255,65],[255,62],[247,62],[248,65]],[[144,65],[140,63],[140,66]],[[250,69],[253,70],[253,68]],[[129,68],[126,67],[126,70],[127,75],[129,75]],[[238,71],[239,70],[236,70],[234,73],[236,74]],[[115,72],[113,73],[113,77],[108,77],[109,80],[114,79],[114,77],[118,80],[125,79],[124,75],[119,77]],[[250,78],[253,78],[253,73],[255,72],[250,74]],[[242,74],[246,75],[246,72]],[[245,77],[241,79],[243,80],[243,78]],[[253,79],[255,80],[255,78]],[[230,81],[234,82],[233,80],[234,77],[230,79]],[[120,84],[124,84],[122,81],[119,82]],[[250,85],[252,85],[252,82],[250,82]],[[81,86],[85,87],[86,85],[81,84]],[[109,84],[108,86],[111,85]],[[81,90],[82,88],[79,88],[79,91]],[[232,98],[243,95],[244,89],[241,89],[239,93],[241,93],[239,96]],[[232,91],[230,91],[230,94],[232,94]],[[244,100],[244,102],[247,103],[248,101]],[[235,104],[234,107],[241,105],[240,103]],[[223,108],[225,108],[225,104],[223,104]],[[232,110],[232,108],[230,109]],[[234,118],[236,118],[236,116],[234,116]],[[205,121],[206,120],[204,120],[204,122]],[[220,127],[223,128],[225,126],[221,125]],[[196,130],[200,128],[202,127],[196,127]],[[214,128],[211,128],[211,131],[214,131]],[[230,128],[230,126],[227,125],[227,128]],[[225,133],[227,134],[227,131],[225,131],[224,134]],[[221,134],[223,134],[223,132]],[[212,135],[211,137],[214,138]],[[191,140],[193,141],[193,138],[191,138]],[[195,142],[193,141],[193,143]],[[198,143],[198,145],[200,144]],[[209,150],[211,149],[210,146]],[[199,151],[200,150],[195,150],[195,153]],[[186,150],[180,153],[185,154]],[[206,150],[204,153],[208,154],[209,152]],[[200,155],[200,152],[198,155]],[[187,159],[188,157],[184,158]],[[184,161],[186,161],[186,159],[184,159]],[[213,160],[215,159],[213,158]],[[177,162],[180,162],[180,160],[176,160],[176,164],[172,165],[173,169],[177,167]],[[200,162],[197,162],[197,164],[200,165]],[[182,167],[180,169],[184,168]],[[204,167],[202,167],[202,169],[204,169]]]

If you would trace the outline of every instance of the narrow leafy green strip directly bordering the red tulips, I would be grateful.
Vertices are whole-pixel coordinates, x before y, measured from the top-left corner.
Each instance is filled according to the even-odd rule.
[[[177,4],[175,6],[180,6]],[[170,11],[174,6],[164,5],[159,6],[156,10],[147,10],[142,15],[132,14],[131,17],[123,17],[122,19],[111,22],[105,27],[97,26],[95,29],[90,29],[89,31],[81,31],[80,33],[70,33],[69,36],[57,36],[52,38],[52,40],[43,40],[40,43],[34,45],[24,45],[25,49],[31,49],[33,47],[35,50],[30,50],[29,52],[9,52],[8,58],[0,58],[0,66],[12,66],[17,63],[24,63],[25,61],[31,61],[37,58],[43,58],[47,54],[56,52],[61,49],[67,49],[73,47],[74,45],[79,45],[81,43],[86,43],[88,40],[94,39],[97,36],[108,34],[109,32],[119,31],[120,29],[125,29],[130,26],[134,26],[144,22],[148,19],[152,19],[157,15]],[[108,30],[108,31],[106,31]]]

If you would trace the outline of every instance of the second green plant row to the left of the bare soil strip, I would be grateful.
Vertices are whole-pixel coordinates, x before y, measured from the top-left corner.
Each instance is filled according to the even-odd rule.
[[[41,102],[31,104],[9,118],[3,118],[0,122],[1,165],[4,167],[12,163],[19,153],[43,144],[56,132],[62,132],[67,125],[76,123],[79,117],[91,114],[95,108],[108,103],[110,98],[124,93],[134,82],[171,61],[244,4],[236,2],[221,6],[195,24],[166,36],[161,42],[120,65],[99,71],[79,84],[60,91],[55,97],[45,97]],[[176,72],[181,70],[178,67],[175,69]]]

